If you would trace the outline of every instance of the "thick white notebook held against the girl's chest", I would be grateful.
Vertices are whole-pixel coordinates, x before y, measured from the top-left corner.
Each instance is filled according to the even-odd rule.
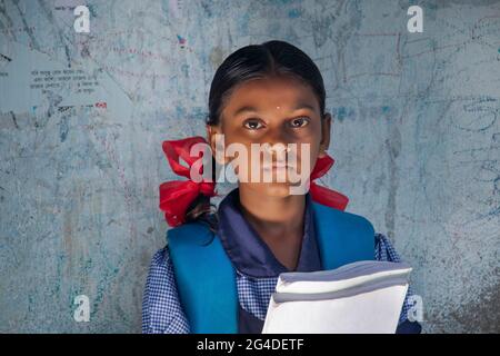
[[[337,269],[283,273],[262,334],[392,334],[411,267],[363,260]]]

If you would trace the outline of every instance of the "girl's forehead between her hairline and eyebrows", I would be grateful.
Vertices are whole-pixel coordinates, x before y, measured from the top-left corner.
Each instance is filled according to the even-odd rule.
[[[310,86],[292,77],[266,77],[237,87],[228,98],[223,112],[233,115],[242,107],[258,111],[293,109],[298,103],[309,105],[319,111],[318,98]]]

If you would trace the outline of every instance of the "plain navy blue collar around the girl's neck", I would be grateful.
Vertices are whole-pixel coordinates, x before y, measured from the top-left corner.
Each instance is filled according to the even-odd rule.
[[[239,188],[229,192],[219,205],[219,238],[234,267],[250,277],[278,277],[290,271],[272,254],[241,212]],[[316,240],[311,197],[306,195],[304,231],[296,271],[321,270]]]

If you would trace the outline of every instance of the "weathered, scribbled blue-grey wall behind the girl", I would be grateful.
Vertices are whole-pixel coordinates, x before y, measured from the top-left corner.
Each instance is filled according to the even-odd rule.
[[[269,39],[322,70],[323,182],[413,265],[424,330],[500,330],[499,1],[87,1],[90,34],[80,3],[0,2],[1,333],[140,332],[161,141],[204,135],[217,66]]]

